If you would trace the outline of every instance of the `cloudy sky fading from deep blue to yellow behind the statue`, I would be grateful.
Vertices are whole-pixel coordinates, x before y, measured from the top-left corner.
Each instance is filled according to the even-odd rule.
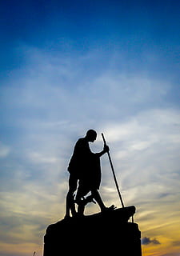
[[[68,162],[106,136],[143,256],[180,255],[178,1],[0,2],[0,254],[42,255]],[[100,194],[121,207],[107,155]],[[89,204],[86,214],[98,212]]]

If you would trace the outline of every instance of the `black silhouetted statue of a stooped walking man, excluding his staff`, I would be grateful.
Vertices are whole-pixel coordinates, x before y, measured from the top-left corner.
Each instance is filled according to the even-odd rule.
[[[102,198],[98,193],[98,189],[101,182],[101,167],[100,157],[109,151],[108,146],[104,146],[103,150],[99,153],[92,153],[90,151],[89,142],[94,142],[97,138],[95,130],[88,130],[84,138],[79,138],[74,146],[74,152],[70,158],[68,171],[70,172],[69,178],[69,191],[66,196],[66,215],[65,218],[70,217],[70,210],[73,216],[76,215],[74,204],[74,192],[79,187],[76,196],[76,202],[78,203],[78,212],[83,214],[84,203],[82,198],[91,191],[91,197],[89,202],[93,201],[93,198],[98,202],[101,210],[106,210],[106,206],[102,202]]]

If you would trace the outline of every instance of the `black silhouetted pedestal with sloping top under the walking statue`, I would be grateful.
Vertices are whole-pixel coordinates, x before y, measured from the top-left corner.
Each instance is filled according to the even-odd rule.
[[[128,222],[134,213],[135,207],[129,206],[105,213],[64,218],[48,226],[44,256],[141,256],[138,224]]]

